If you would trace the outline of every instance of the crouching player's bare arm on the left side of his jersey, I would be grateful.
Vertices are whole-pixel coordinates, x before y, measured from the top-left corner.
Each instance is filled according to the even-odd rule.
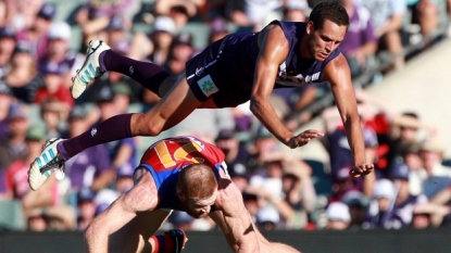
[[[155,208],[158,193],[153,177],[145,169],[137,170],[135,176],[135,186],[89,224],[85,231],[87,252],[111,252],[108,248],[110,235],[128,224],[138,212]]]

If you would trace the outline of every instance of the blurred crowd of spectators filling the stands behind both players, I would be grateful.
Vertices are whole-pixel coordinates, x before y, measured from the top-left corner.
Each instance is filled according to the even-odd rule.
[[[83,230],[134,184],[133,172],[150,144],[139,137],[90,148],[66,162],[63,179],[53,175],[38,191],[28,187],[29,164],[47,139],[77,136],[134,105],[146,111],[159,100],[118,73],[105,73],[79,99],[72,99],[71,77],[83,64],[89,40],[102,39],[118,53],[179,75],[186,61],[210,42],[234,31],[260,30],[276,18],[306,21],[318,1],[78,0],[71,18],[57,18],[64,4],[59,1],[0,0],[0,205],[18,202],[25,220],[23,228],[1,226]],[[447,36],[426,40],[448,25],[450,0],[340,2],[351,17],[340,49],[353,78],[377,68],[388,55],[390,64],[373,73],[368,83],[380,80],[403,67],[406,47],[427,41],[424,51]],[[206,41],[185,29],[192,24],[206,27]],[[287,88],[275,90],[271,100],[296,130],[312,115],[291,115],[326,92],[327,85]],[[353,161],[336,107],[318,114],[327,164],[299,159],[281,147],[249,104],[197,110],[172,132],[199,137],[224,151],[228,173],[262,229],[450,226],[451,163],[433,123],[415,112],[393,112],[364,90],[356,90],[356,97],[367,162],[376,165],[364,178],[349,176]],[[164,226],[215,228],[208,218],[192,219],[181,212],[174,212]]]

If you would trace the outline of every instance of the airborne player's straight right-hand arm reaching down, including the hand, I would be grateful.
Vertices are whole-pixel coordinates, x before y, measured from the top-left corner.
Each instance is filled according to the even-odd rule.
[[[359,118],[354,88],[347,60],[342,54],[330,61],[324,69],[324,80],[330,88],[343,122],[349,146],[354,160],[351,176],[360,177],[374,169],[373,164],[366,164],[362,125]]]

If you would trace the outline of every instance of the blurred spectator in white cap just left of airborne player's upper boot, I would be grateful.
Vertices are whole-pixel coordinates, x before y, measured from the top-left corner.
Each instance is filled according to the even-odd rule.
[[[39,60],[38,69],[40,73],[59,66],[61,74],[65,75],[63,79],[64,87],[72,85],[71,78],[75,75],[75,66],[83,64],[84,55],[70,49],[72,30],[65,22],[54,22],[49,29],[49,47],[43,58]]]

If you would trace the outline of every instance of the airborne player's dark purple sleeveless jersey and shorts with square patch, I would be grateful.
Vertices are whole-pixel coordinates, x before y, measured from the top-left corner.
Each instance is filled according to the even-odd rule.
[[[324,68],[340,53],[339,49],[325,61],[301,59],[300,41],[305,35],[306,23],[273,21],[271,24],[281,27],[289,43],[289,53],[279,65],[275,88],[321,83]],[[200,101],[213,97],[216,106],[227,107],[250,99],[259,55],[259,34],[227,35],[187,62],[187,80]]]

